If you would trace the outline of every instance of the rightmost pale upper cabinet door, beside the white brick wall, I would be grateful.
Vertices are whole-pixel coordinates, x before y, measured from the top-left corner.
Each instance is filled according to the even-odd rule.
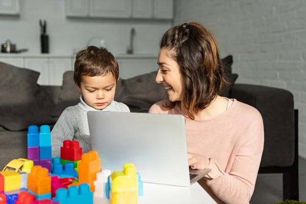
[[[172,19],[174,17],[174,0],[153,0],[153,16],[159,19]]]

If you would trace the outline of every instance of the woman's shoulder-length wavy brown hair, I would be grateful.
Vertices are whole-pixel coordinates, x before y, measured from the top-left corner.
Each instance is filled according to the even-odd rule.
[[[164,108],[172,109],[178,104],[184,115],[194,119],[198,110],[208,107],[223,87],[229,85],[217,43],[200,23],[190,22],[166,31],[160,48],[169,51],[169,57],[179,64],[185,80],[182,101],[170,101]]]

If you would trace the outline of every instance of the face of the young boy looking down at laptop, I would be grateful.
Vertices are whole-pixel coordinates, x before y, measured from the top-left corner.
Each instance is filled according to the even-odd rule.
[[[116,79],[112,73],[96,77],[83,76],[81,87],[78,89],[89,106],[103,110],[115,97]]]

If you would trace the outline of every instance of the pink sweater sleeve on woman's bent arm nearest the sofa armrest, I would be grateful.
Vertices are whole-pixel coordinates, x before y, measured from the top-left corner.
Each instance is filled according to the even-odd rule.
[[[231,171],[225,173],[210,158],[211,172],[205,177],[214,194],[227,204],[249,203],[254,191],[264,146],[264,126],[258,113],[247,126]]]

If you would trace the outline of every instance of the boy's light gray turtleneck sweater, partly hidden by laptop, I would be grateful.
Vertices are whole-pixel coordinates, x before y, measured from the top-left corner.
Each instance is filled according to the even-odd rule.
[[[115,100],[103,110],[96,110],[86,104],[82,95],[80,100],[78,105],[66,108],[53,127],[51,132],[53,158],[60,157],[61,146],[63,146],[64,140],[79,141],[83,153],[91,150],[87,120],[88,111],[130,112],[129,107]]]

